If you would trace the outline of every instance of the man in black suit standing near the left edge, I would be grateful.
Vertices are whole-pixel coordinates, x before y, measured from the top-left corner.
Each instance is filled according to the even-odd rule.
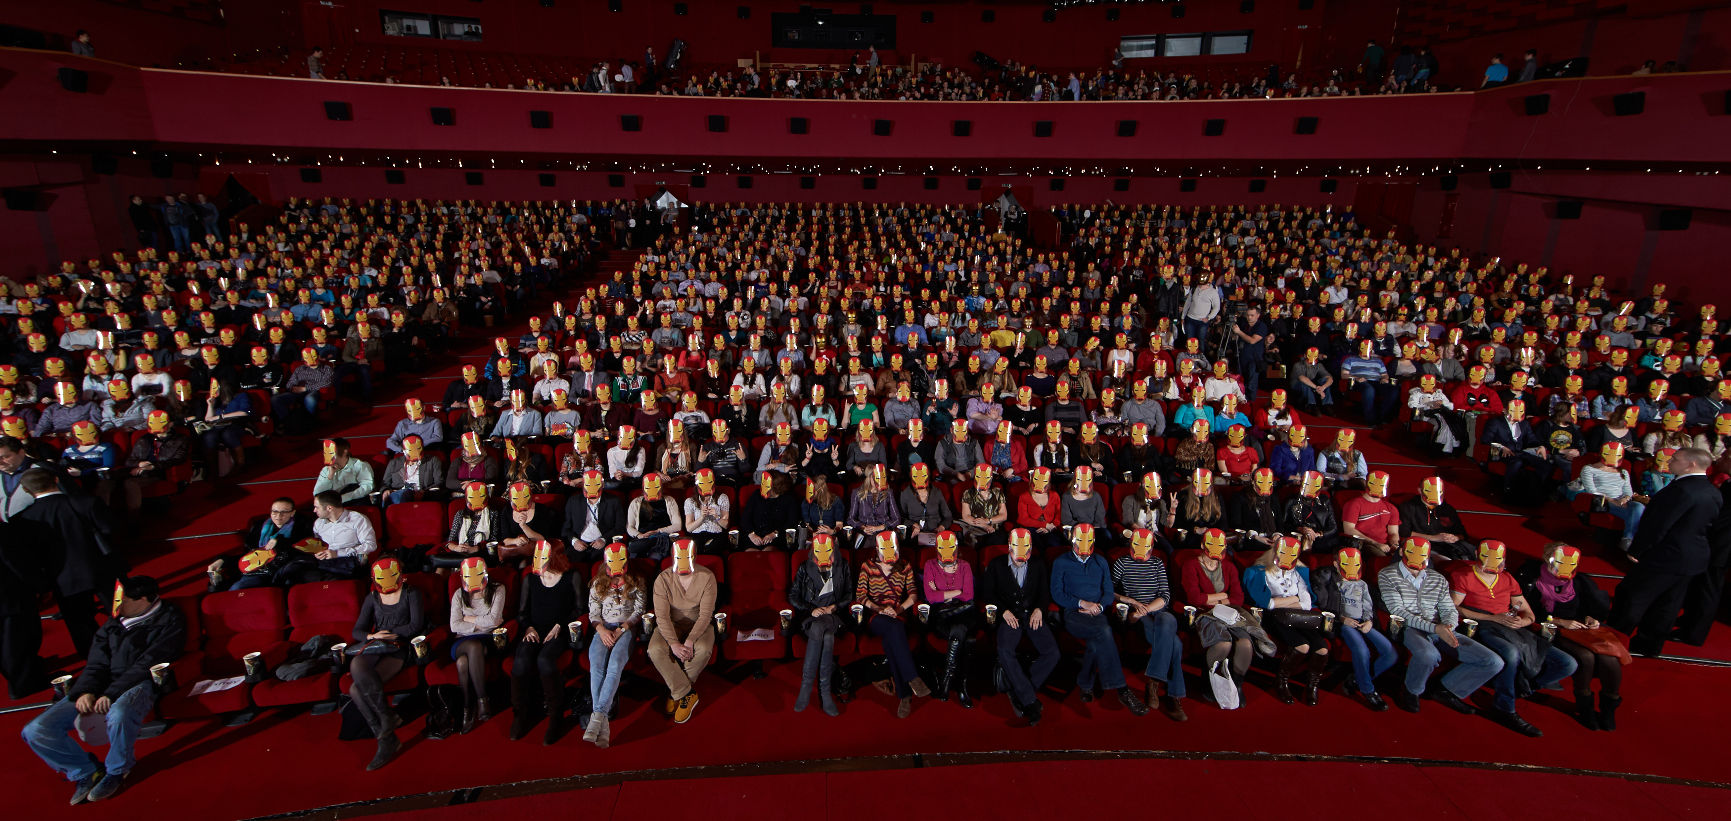
[[[78,655],[85,656],[97,634],[97,599],[106,601],[114,579],[126,570],[119,554],[104,551],[125,525],[100,499],[62,494],[50,471],[31,468],[19,487],[35,501],[12,521],[19,525],[24,544],[45,558],[61,620]]]

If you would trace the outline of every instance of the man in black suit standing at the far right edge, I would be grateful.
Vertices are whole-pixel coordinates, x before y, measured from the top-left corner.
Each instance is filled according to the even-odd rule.
[[[1708,464],[1707,450],[1677,450],[1670,457],[1677,478],[1653,494],[1629,544],[1636,566],[1617,584],[1610,627],[1629,634],[1631,653],[1651,656],[1665,650],[1689,582],[1707,572],[1712,558],[1707,530],[1722,506],[1719,488],[1707,478]]]

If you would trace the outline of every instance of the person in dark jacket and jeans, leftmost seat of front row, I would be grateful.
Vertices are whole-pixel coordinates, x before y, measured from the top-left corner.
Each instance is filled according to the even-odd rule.
[[[187,644],[187,620],[180,608],[161,599],[156,579],[123,579],[114,592],[114,617],[97,630],[85,672],[66,698],[24,726],[31,752],[74,785],[73,804],[119,792],[138,762],[132,750],[138,727],[156,707],[151,667],[180,658]],[[90,721],[107,724],[109,752],[102,762],[71,736],[74,726]]]

